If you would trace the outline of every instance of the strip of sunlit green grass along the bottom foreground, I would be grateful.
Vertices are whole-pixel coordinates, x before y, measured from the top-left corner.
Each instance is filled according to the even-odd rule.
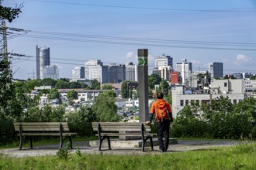
[[[6,158],[0,169],[255,169],[256,144],[206,148],[161,155],[68,155]]]

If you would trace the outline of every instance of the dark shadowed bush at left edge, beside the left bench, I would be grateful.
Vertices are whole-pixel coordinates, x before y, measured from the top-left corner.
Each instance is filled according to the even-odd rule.
[[[12,120],[0,119],[0,137],[0,145],[6,145],[14,141],[16,135]]]

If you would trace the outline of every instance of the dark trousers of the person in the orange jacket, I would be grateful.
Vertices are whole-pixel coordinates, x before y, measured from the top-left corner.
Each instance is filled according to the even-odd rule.
[[[157,122],[157,139],[159,148],[167,151],[169,146],[169,131],[170,131],[170,120],[164,120],[163,122]],[[163,141],[164,134],[164,141]]]

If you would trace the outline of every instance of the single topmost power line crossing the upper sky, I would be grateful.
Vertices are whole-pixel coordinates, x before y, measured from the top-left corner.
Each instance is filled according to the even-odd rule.
[[[148,7],[137,7],[137,6],[121,6],[121,5],[95,5],[86,3],[74,3],[74,2],[55,2],[45,0],[29,0],[32,2],[47,2],[55,4],[65,5],[85,5],[102,8],[130,8],[130,9],[143,9],[143,10],[154,10],[154,11],[174,11],[174,12],[237,12],[237,13],[255,13],[255,11],[244,11],[244,10],[217,10],[217,9],[185,9],[185,8],[148,8]]]

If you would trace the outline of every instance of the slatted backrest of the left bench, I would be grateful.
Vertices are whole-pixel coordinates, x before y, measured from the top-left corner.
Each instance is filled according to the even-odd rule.
[[[19,131],[19,125],[22,125],[22,131],[69,131],[67,122],[16,122],[13,123],[16,131]]]

